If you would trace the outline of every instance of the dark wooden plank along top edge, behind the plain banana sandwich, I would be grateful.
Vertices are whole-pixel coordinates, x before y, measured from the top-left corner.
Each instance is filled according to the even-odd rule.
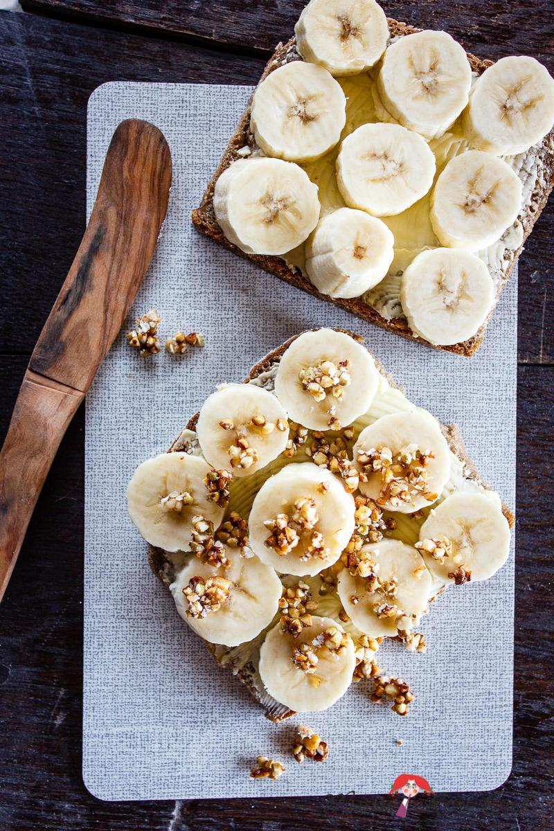
[[[291,37],[305,0],[22,0],[22,6],[96,25],[145,28],[164,36],[199,37],[225,46],[273,50]],[[549,0],[507,3],[503,0],[383,2],[389,17],[414,26],[445,29],[469,52],[496,60],[530,54],[551,61],[552,21]],[[536,32],[542,32],[537,39]]]

